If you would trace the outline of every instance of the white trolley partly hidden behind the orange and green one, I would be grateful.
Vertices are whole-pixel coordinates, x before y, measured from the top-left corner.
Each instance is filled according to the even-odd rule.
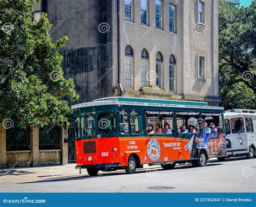
[[[256,147],[256,110],[231,109],[224,113],[227,154],[252,159]],[[220,158],[219,160],[224,160]]]

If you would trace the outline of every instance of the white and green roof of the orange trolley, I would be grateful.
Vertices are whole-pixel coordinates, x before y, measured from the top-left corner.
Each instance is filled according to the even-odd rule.
[[[107,105],[132,105],[132,106],[151,106],[151,107],[174,107],[174,108],[204,108],[204,109],[218,109],[224,110],[223,107],[207,106],[207,102],[196,101],[176,101],[176,100],[162,100],[162,99],[143,99],[143,98],[129,98],[129,97],[110,97],[93,100],[92,102],[79,103],[73,105],[72,109],[87,108],[94,106]]]

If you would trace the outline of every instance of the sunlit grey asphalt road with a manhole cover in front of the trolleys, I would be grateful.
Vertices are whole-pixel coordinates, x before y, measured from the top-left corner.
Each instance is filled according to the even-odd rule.
[[[2,183],[1,192],[256,192],[256,159],[211,161],[203,168],[186,164],[173,170],[138,169],[90,177],[60,177],[33,182]],[[86,171],[86,170],[83,170]],[[14,177],[15,179],[15,177]],[[17,178],[18,180],[18,178]],[[0,181],[1,182],[1,181]]]

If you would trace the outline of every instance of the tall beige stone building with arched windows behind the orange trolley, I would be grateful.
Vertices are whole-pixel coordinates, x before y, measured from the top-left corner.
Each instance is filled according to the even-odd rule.
[[[41,0],[33,20],[41,12],[53,24],[53,42],[69,37],[59,52],[65,77],[75,81],[78,103],[132,96],[219,104],[217,0]],[[33,141],[38,129],[27,134],[29,146],[38,145]],[[61,137],[57,148],[36,147],[34,155],[55,150],[49,160],[68,162],[75,157],[72,138],[68,147]],[[28,149],[24,160],[31,160],[33,149]],[[8,153],[5,162],[17,154]]]

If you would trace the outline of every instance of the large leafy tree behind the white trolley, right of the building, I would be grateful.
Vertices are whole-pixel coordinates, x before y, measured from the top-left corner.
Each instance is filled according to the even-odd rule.
[[[219,87],[225,109],[255,109],[255,6],[219,0]]]

